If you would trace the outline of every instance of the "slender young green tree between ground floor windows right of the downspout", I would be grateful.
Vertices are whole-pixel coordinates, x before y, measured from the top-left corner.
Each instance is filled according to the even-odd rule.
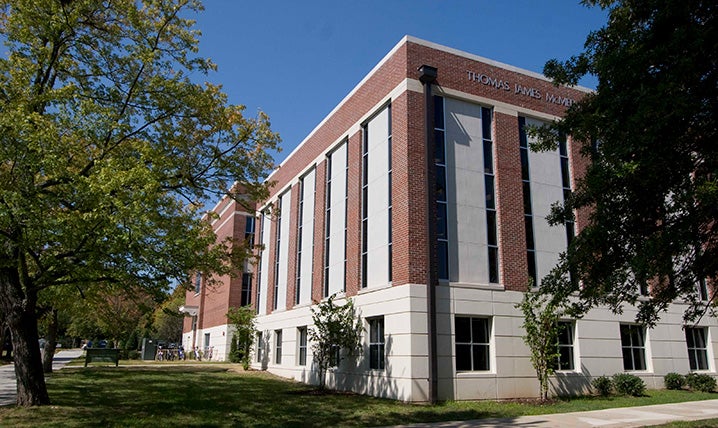
[[[543,279],[542,286],[556,281],[563,272],[554,271]],[[554,373],[559,357],[558,335],[561,319],[560,300],[532,291],[529,285],[523,300],[516,307],[521,310],[524,322],[524,343],[531,351],[531,364],[539,381],[542,400],[548,399],[549,376]]]

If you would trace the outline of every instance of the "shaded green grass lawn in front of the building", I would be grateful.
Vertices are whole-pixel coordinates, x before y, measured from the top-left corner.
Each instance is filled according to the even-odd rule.
[[[124,362],[123,362],[124,363]],[[718,398],[648,391],[640,398],[577,398],[552,404],[445,402],[405,404],[354,394],[318,394],[311,386],[234,364],[66,367],[47,382],[52,406],[0,407],[0,426],[382,426],[512,418]],[[713,423],[709,425],[709,423]],[[676,427],[718,427],[718,421]]]

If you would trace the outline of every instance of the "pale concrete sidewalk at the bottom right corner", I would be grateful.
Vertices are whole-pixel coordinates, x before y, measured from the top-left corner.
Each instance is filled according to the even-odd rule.
[[[661,425],[674,421],[695,421],[712,418],[718,418],[718,400],[623,407],[618,409],[593,410],[590,412],[521,416],[507,419],[476,419],[471,421],[437,422],[433,424],[411,424],[400,425],[400,427],[628,428]]]

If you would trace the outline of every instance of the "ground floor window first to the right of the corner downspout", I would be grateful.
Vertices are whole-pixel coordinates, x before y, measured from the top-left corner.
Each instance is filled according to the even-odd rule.
[[[488,371],[489,318],[459,317],[454,320],[457,371]]]

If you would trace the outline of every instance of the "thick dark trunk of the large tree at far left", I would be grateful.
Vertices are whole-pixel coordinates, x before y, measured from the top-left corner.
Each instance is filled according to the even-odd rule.
[[[1,267],[0,311],[7,317],[12,335],[18,406],[50,404],[40,359],[36,305],[35,292],[23,290],[17,270]]]

